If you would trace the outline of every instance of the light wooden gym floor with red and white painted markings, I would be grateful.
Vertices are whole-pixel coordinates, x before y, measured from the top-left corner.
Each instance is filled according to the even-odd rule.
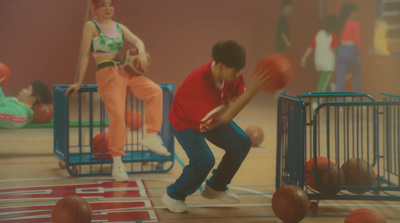
[[[114,183],[108,176],[76,178],[61,170],[53,155],[52,129],[0,130],[0,222],[50,222],[52,205],[68,191],[85,195],[94,210],[93,222],[278,222],[271,208],[275,191],[276,101],[260,94],[235,121],[242,128],[257,124],[265,134],[262,145],[252,148],[231,184],[241,202],[224,205],[202,198],[197,191],[187,198],[189,212],[184,214],[170,213],[161,203],[165,188],[181,174],[182,164],[188,162],[178,143],[171,171],[134,174],[129,183]],[[210,146],[218,163],[222,150]],[[344,222],[352,210],[370,208],[394,223],[400,222],[399,207],[398,202],[321,201],[317,214],[302,222]]]

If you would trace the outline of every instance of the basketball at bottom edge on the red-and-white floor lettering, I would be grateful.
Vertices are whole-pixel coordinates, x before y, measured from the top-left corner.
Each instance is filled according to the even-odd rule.
[[[79,196],[64,197],[54,207],[51,219],[53,223],[90,223],[92,208],[86,200]]]

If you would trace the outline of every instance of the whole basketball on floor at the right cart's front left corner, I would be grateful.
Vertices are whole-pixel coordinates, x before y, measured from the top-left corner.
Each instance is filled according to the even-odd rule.
[[[299,222],[310,208],[306,193],[298,186],[280,187],[272,196],[272,209],[280,220],[288,223]]]

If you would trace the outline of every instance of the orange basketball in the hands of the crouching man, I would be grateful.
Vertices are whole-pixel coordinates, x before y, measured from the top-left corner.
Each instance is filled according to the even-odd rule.
[[[264,86],[264,92],[274,93],[284,88],[292,77],[293,67],[287,57],[282,54],[271,54],[262,59],[254,69],[254,74],[269,71],[270,78]]]

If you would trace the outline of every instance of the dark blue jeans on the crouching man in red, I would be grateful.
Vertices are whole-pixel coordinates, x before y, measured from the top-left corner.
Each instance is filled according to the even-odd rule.
[[[182,175],[167,188],[168,195],[176,200],[184,201],[196,192],[214,167],[215,158],[205,139],[225,150],[222,161],[207,180],[207,185],[216,191],[228,189],[251,148],[250,137],[234,122],[218,125],[205,133],[190,128],[174,129],[174,133],[190,160]]]

